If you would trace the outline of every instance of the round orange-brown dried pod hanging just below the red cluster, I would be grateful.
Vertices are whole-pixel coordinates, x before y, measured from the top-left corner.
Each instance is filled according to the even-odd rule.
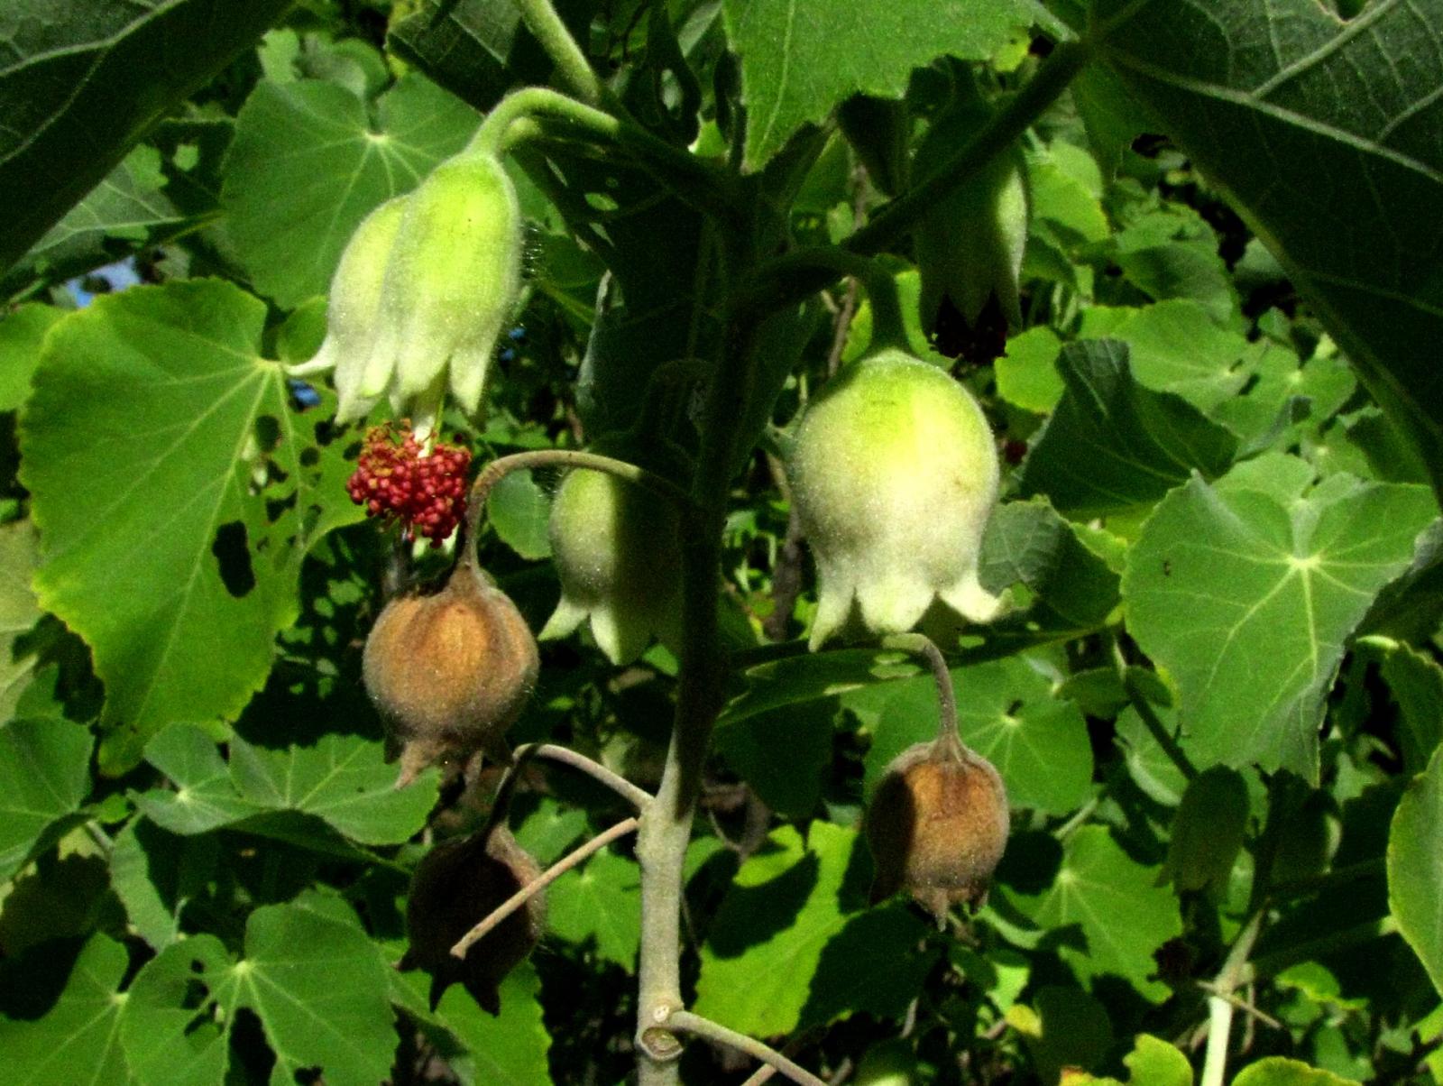
[[[483,578],[463,563],[440,592],[392,599],[367,638],[365,689],[401,745],[398,784],[478,750],[509,757],[502,737],[535,685],[537,643]]]

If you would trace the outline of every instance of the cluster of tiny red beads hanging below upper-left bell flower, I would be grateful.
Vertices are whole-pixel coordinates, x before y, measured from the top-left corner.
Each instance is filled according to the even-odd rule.
[[[405,539],[439,547],[466,511],[468,468],[470,452],[459,445],[436,442],[426,453],[410,426],[372,426],[346,492],[368,517],[395,518]]]

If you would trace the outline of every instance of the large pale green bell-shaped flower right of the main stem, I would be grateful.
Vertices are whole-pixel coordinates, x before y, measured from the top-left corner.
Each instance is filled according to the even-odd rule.
[[[807,407],[788,477],[821,582],[814,650],[903,633],[937,601],[974,622],[1001,609],[977,579],[997,448],[945,371],[898,349],[854,362]]]

